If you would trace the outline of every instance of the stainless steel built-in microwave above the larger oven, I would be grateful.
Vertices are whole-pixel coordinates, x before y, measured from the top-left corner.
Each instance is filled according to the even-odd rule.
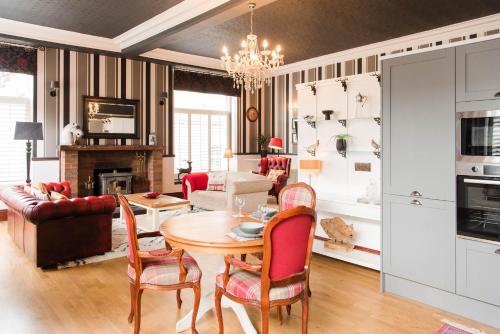
[[[458,112],[457,161],[500,163],[500,110]]]

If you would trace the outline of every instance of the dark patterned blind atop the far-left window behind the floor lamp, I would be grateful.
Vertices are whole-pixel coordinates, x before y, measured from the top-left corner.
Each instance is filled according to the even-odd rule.
[[[0,71],[35,75],[36,49],[0,44]]]

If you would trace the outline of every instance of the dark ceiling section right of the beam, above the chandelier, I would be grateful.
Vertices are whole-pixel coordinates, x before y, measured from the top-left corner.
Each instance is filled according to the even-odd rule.
[[[280,43],[289,64],[498,12],[500,0],[278,0],[256,9],[254,31]],[[239,49],[249,22],[242,15],[162,45],[219,58],[224,44]]]

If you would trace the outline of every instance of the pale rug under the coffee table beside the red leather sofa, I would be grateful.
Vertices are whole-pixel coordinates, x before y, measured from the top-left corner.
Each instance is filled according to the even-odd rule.
[[[187,214],[202,212],[205,211],[203,209],[194,208],[192,211],[189,211]],[[182,211],[166,211],[161,213],[161,219],[167,219],[169,217],[177,216],[182,214]],[[140,221],[147,219],[147,215],[138,215],[136,216],[138,221],[138,225],[140,225]],[[145,230],[140,227],[137,228],[137,232],[145,232]],[[141,250],[149,251],[153,249],[158,249],[165,247],[165,241],[163,237],[156,238],[141,238],[139,239],[139,247]],[[119,257],[124,257],[128,255],[128,242],[127,242],[127,228],[125,224],[123,224],[120,218],[113,219],[112,223],[112,245],[111,251],[104,253],[102,255],[91,256],[82,259],[76,259],[72,261],[61,262],[57,264],[55,268],[52,269],[65,269],[65,268],[73,268],[79,267],[90,263],[97,263],[108,261],[112,259],[116,259]]]

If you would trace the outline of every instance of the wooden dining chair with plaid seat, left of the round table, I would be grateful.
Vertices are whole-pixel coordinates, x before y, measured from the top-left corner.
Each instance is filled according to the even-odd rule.
[[[191,332],[196,331],[196,316],[200,305],[201,270],[188,253],[171,247],[165,241],[165,248],[153,251],[141,251],[138,239],[162,237],[159,231],[137,234],[135,215],[127,199],[118,194],[127,226],[129,264],[128,280],[130,283],[131,307],[129,323],[134,321],[134,333],[138,334],[141,326],[141,296],[145,289],[156,291],[177,291],[177,307],[182,304],[181,289],[192,288],[194,291],[193,317]]]

